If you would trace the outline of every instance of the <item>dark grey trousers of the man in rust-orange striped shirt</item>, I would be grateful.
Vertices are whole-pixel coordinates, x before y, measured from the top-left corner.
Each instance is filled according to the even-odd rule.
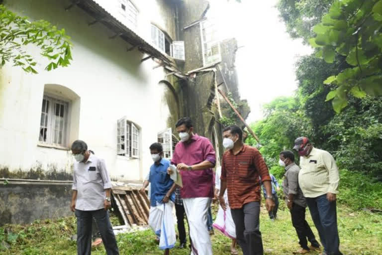
[[[243,255],[263,255],[260,232],[260,202],[249,202],[240,209],[231,209],[236,240]]]

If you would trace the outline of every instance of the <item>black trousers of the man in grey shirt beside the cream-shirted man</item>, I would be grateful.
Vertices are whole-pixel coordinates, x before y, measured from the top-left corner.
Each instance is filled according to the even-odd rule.
[[[309,250],[308,241],[314,247],[319,247],[320,245],[310,229],[309,224],[305,220],[305,211],[305,207],[293,203],[292,209],[290,210],[290,216],[292,217],[292,225],[298,236],[298,243],[301,248]]]

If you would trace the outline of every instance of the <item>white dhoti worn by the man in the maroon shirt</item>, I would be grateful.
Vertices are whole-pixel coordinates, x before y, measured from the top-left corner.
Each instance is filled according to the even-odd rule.
[[[211,198],[184,198],[192,241],[191,255],[212,255],[211,239],[207,229],[207,214]]]

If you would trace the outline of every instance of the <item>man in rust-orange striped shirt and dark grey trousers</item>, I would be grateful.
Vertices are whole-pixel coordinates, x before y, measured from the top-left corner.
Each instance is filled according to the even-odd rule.
[[[268,212],[275,207],[272,196],[271,177],[259,150],[242,141],[242,130],[230,126],[223,131],[223,154],[219,202],[226,210],[224,192],[227,189],[228,203],[236,228],[236,239],[243,255],[263,255],[260,232],[261,177],[267,191]]]

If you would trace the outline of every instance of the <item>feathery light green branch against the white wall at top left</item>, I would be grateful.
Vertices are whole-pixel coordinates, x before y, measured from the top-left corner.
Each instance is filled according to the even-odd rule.
[[[11,61],[25,72],[37,73],[37,63],[27,53],[29,45],[39,47],[41,55],[49,60],[48,71],[68,66],[72,60],[72,43],[64,29],[45,20],[28,21],[0,5],[0,68]]]

